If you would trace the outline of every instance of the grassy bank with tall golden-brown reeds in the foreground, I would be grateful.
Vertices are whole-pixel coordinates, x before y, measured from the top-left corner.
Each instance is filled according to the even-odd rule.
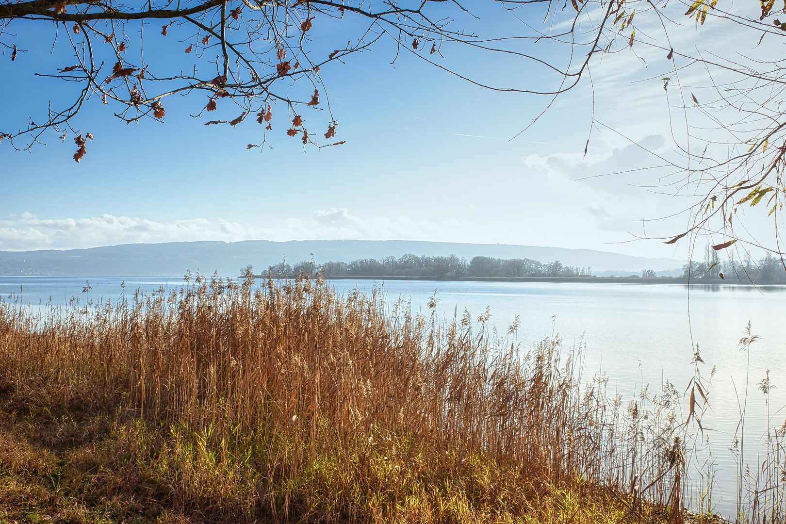
[[[0,522],[682,522],[678,391],[488,317],[322,280],[6,302]]]

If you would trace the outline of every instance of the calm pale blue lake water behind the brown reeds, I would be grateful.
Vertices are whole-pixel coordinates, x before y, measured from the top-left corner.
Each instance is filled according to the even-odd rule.
[[[65,304],[72,297],[114,302],[141,288],[179,287],[182,278],[96,277],[90,281],[89,295],[83,294],[84,278],[0,277],[4,300],[19,294],[21,302],[38,306],[49,302]],[[759,439],[769,427],[780,427],[786,419],[786,287],[682,284],[582,284],[453,282],[424,280],[333,280],[337,291],[354,288],[371,291],[381,284],[387,305],[401,296],[411,301],[413,310],[427,312],[426,302],[434,294],[440,299],[437,312],[442,317],[461,317],[465,308],[477,318],[487,307],[490,324],[505,335],[520,320],[518,339],[528,348],[552,333],[559,333],[564,346],[582,345],[585,372],[605,372],[610,390],[622,393],[626,401],[641,392],[659,391],[664,379],[683,391],[693,374],[692,348],[699,345],[707,363],[708,376],[716,374],[710,388],[711,412],[703,418],[714,456],[718,481],[714,488],[716,511],[733,515],[736,504],[736,463],[727,448],[740,417],[738,396],[742,398],[750,357],[746,438]],[[751,321],[751,332],[762,338],[750,351],[740,350],[739,340]],[[769,406],[756,384],[769,369],[770,379],[779,389],[772,390]],[[687,405],[687,401],[684,402]],[[748,440],[747,442],[750,442]],[[750,444],[748,444],[750,445]],[[759,446],[760,448],[760,446]],[[747,449],[746,463],[758,470],[756,449]]]

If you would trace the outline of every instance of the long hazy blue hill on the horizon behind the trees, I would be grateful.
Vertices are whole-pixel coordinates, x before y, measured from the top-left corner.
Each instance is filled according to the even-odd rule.
[[[123,244],[119,246],[71,249],[68,251],[0,251],[0,275],[48,275],[68,277],[178,277],[185,269],[234,277],[241,267],[252,264],[257,270],[281,262],[314,260],[318,263],[349,262],[356,258],[414,255],[457,255],[467,260],[475,256],[532,258],[538,262],[559,260],[565,266],[591,266],[594,273],[638,273],[641,269],[676,269],[681,261],[673,258],[645,258],[591,249],[517,246],[512,244],[454,244],[417,240],[245,240],[243,242],[170,242],[166,244]]]

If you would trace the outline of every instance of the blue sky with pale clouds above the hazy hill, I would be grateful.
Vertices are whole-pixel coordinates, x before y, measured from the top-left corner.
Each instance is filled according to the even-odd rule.
[[[523,35],[527,27],[516,16],[534,20],[487,8],[487,2],[473,8],[479,20],[459,16],[457,23],[481,35]],[[644,20],[639,38],[655,38],[654,24]],[[28,118],[43,119],[47,101],[74,93],[60,80],[34,75],[69,60],[50,52],[53,28],[24,21],[12,28],[19,35],[14,42],[26,52],[14,62],[8,53],[0,58],[0,91],[6,95],[0,131],[24,127]],[[356,29],[349,23],[315,25],[314,42],[332,49],[332,42],[346,41]],[[145,39],[147,56],[160,53],[162,60],[176,62],[174,40],[151,34]],[[722,42],[729,35],[688,24],[671,36],[673,44],[695,47],[696,41]],[[737,39],[740,46],[755,43]],[[559,49],[537,49],[550,59],[565,59]],[[549,82],[544,71],[509,56],[456,48],[443,54],[439,60],[448,67],[495,85]],[[273,148],[247,150],[247,144],[261,141],[261,126],[253,119],[236,128],[202,125],[206,119],[190,115],[204,104],[196,100],[203,95],[167,99],[164,123],[147,119],[130,125],[112,115],[116,107],[94,97],[75,121],[95,137],[80,163],[72,159],[71,135],[61,142],[52,131],[43,139],[46,145],[30,152],[13,151],[3,141],[0,250],[362,239],[687,256],[687,243],[632,241],[682,233],[688,220],[681,215],[653,221],[681,211],[685,200],[659,194],[656,177],[667,171],[639,170],[657,165],[650,152],[676,155],[681,141],[669,118],[681,101],[675,90],[669,99],[663,90],[661,76],[671,66],[660,49],[636,44],[604,57],[593,64],[591,83],[586,79],[557,98],[521,134],[548,97],[485,90],[410,53],[400,53],[391,65],[395,56],[395,44],[383,39],[321,71],[339,121],[336,140],[346,141],[336,147],[303,148],[298,138],[285,135],[285,108],[274,106],[268,135]],[[234,112],[219,111],[217,117],[231,119]],[[593,112],[597,126],[589,135]],[[303,117],[307,123],[324,121],[315,112]]]

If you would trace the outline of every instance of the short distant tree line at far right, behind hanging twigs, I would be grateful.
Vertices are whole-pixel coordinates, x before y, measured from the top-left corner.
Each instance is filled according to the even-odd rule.
[[[767,253],[758,261],[747,255],[744,260],[721,260],[718,251],[708,244],[704,248],[703,262],[691,260],[682,266],[682,277],[702,282],[749,282],[756,284],[786,284],[786,270],[780,258]]]

